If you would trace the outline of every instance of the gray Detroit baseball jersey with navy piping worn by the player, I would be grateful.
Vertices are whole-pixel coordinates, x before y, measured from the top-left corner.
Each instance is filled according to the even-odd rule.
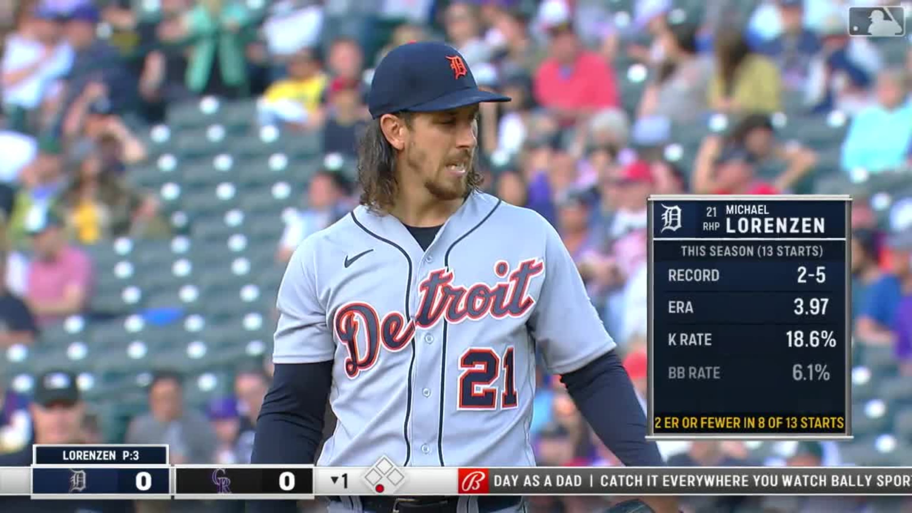
[[[275,363],[334,361],[321,466],[534,466],[535,349],[564,373],[615,347],[554,228],[482,193],[427,251],[358,206],[295,250],[278,309]]]

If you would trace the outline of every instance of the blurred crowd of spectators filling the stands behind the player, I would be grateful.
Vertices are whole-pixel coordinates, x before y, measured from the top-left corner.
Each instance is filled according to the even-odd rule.
[[[855,343],[892,348],[912,376],[912,180],[903,179],[912,177],[912,51],[907,38],[896,52],[849,37],[851,5],[878,4],[0,2],[0,347],[42,344],[42,330],[88,315],[98,273],[88,246],[117,237],[169,244],[160,194],[130,175],[150,158],[145,134],[166,124],[175,105],[252,102],[252,131],[269,126],[321,141],[331,158],[275,241],[276,262],[286,262],[306,236],[357,203],[350,162],[369,120],[371,68],[391,47],[433,38],[460,50],[480,86],[513,98],[482,105],[485,187],[556,227],[639,393],[648,195],[805,194],[824,183],[855,199]],[[814,130],[785,129],[796,124]],[[839,138],[821,146],[815,130]],[[868,186],[885,176],[899,178],[886,190]],[[13,390],[0,396],[0,452],[16,454],[28,440],[98,441],[78,391],[49,394],[53,401],[37,393],[55,383],[68,390],[74,380],[67,372],[38,377],[31,403]],[[149,413],[107,441],[168,443],[176,463],[247,461],[268,382],[268,361],[239,368],[233,394],[197,410],[182,402],[181,375],[164,370],[148,387]],[[541,465],[618,464],[560,382],[543,375],[538,387],[532,435]],[[762,457],[741,442],[660,448],[676,466],[857,463],[835,444],[783,443]],[[807,500],[762,506],[859,510],[854,500]],[[719,501],[692,507],[740,507]],[[604,504],[536,497],[534,506]]]

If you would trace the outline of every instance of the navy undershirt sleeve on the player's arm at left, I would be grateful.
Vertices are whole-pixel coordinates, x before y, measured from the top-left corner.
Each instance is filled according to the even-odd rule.
[[[314,463],[323,439],[326,400],[333,380],[333,362],[276,363],[273,383],[256,419],[251,463],[306,465]],[[294,501],[250,501],[249,512],[291,513]]]

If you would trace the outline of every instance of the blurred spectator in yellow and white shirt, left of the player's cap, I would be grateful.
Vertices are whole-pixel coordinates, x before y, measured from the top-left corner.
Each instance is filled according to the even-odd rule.
[[[287,64],[288,78],[275,82],[259,101],[260,123],[284,124],[297,130],[322,125],[323,98],[328,78],[312,49],[298,52]]]

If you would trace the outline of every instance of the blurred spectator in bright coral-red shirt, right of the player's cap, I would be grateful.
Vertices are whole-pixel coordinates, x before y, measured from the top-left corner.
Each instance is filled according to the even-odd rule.
[[[587,50],[569,23],[548,29],[548,58],[535,74],[535,99],[569,126],[596,110],[619,105],[614,71]]]

